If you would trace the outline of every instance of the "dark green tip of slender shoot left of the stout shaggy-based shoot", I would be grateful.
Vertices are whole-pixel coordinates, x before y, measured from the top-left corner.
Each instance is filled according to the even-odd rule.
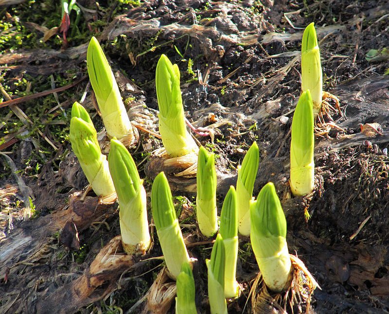
[[[224,240],[238,235],[238,212],[237,197],[233,186],[224,198],[222,211],[220,213],[220,235]]]

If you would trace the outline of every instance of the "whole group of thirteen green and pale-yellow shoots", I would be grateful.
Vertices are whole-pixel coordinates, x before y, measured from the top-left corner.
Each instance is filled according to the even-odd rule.
[[[116,192],[119,202],[122,243],[127,254],[144,254],[150,247],[146,192],[143,180],[125,143],[134,136],[119,88],[96,38],[87,54],[88,74],[110,140],[108,158],[101,153],[97,133],[86,109],[74,103],[70,126],[71,145],[93,191],[101,197]],[[313,23],[304,31],[301,48],[302,93],[292,122],[290,188],[294,195],[314,189],[314,113],[322,97],[320,53]],[[238,232],[250,237],[253,252],[266,287],[273,293],[287,290],[293,266],[286,244],[286,219],[273,183],[253,197],[258,172],[259,149],[253,142],[238,166],[236,188],[225,196],[220,217],[216,208],[217,176],[214,156],[198,148],[188,132],[177,65],[161,55],[156,70],[159,133],[169,157],[198,155],[196,216],[206,237],[214,237],[208,268],[208,296],[212,314],[227,313],[226,298],[236,298]],[[188,254],[163,172],[154,179],[151,209],[169,276],[177,280],[176,313],[195,314],[193,259]],[[220,223],[218,223],[220,222]]]

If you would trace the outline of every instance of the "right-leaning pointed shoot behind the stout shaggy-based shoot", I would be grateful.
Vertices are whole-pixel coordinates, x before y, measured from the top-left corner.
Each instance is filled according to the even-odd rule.
[[[255,177],[259,165],[259,149],[253,142],[243,158],[242,166],[238,166],[238,181],[236,182],[236,195],[238,201],[238,230],[244,236],[250,235],[250,205]]]

